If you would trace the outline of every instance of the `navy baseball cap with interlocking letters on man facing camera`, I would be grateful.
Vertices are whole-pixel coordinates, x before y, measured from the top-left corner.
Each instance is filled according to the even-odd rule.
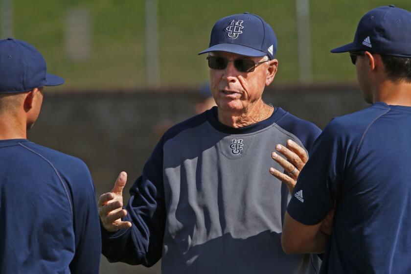
[[[234,14],[214,24],[210,46],[201,51],[226,51],[245,56],[265,56],[270,60],[277,51],[277,38],[273,28],[261,17],[251,13]]]

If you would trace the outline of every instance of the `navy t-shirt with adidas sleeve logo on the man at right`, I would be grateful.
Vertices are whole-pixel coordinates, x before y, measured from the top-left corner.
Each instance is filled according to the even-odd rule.
[[[411,107],[377,102],[333,119],[287,211],[320,223],[336,202],[321,273],[411,273]]]

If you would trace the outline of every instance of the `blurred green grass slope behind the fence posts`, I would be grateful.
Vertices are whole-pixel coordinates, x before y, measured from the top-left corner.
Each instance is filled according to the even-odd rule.
[[[13,0],[13,36],[36,46],[49,72],[66,79],[61,89],[149,89],[145,79],[144,0]],[[213,24],[221,17],[249,11],[264,18],[278,39],[275,82],[298,83],[295,0],[158,0],[160,84],[191,87],[208,79],[205,56]],[[347,54],[329,50],[353,40],[357,23],[369,9],[395,4],[411,10],[410,0],[311,0],[311,58],[314,82],[354,82]],[[91,56],[68,60],[64,22],[72,9],[91,14]]]

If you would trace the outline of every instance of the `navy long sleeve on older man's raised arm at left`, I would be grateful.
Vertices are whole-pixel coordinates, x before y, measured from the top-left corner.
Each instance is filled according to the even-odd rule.
[[[142,175],[130,188],[124,221],[130,221],[132,227],[111,233],[101,226],[102,253],[110,262],[149,267],[161,257],[166,219],[163,142],[164,137],[144,165]]]

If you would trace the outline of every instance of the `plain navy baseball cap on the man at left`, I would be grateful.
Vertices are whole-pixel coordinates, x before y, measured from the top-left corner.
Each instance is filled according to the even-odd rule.
[[[0,93],[25,92],[63,83],[60,76],[47,73],[46,61],[34,46],[12,38],[0,40]]]

